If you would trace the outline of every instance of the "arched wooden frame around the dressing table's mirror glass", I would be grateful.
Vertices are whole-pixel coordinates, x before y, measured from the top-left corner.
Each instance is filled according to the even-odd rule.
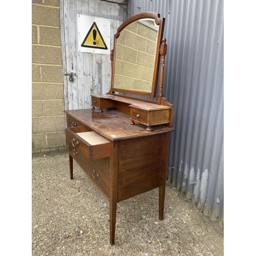
[[[126,26],[132,24],[136,20],[143,19],[143,18],[155,19],[155,23],[159,26],[151,92],[143,92],[143,91],[137,91],[137,90],[123,89],[123,88],[114,88],[117,38],[119,37],[120,32]],[[140,96],[156,97],[157,83],[158,83],[158,73],[159,73],[159,65],[160,65],[160,45],[161,45],[161,42],[162,42],[162,39],[163,39],[164,22],[165,22],[165,18],[163,18],[163,17],[160,18],[159,13],[142,12],[142,13],[139,13],[139,14],[136,14],[136,15],[130,17],[129,19],[126,19],[125,22],[123,22],[120,25],[120,27],[117,29],[116,34],[114,35],[114,46],[113,46],[113,52],[112,52],[112,56],[111,56],[111,60],[112,60],[111,90],[110,90],[109,94],[114,94],[115,92],[119,92],[119,93],[127,93],[127,94],[140,95]]]

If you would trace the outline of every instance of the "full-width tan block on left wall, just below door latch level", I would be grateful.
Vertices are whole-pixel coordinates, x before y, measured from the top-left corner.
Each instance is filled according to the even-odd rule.
[[[63,99],[63,84],[32,83],[32,99]]]

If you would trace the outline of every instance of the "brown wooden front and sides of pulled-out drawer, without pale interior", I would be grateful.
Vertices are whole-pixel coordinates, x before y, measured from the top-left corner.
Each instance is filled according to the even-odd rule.
[[[110,142],[91,145],[76,134],[76,132],[82,133],[88,131],[90,130],[84,126],[66,129],[69,151],[73,154],[73,156],[82,155],[89,160],[110,157]]]

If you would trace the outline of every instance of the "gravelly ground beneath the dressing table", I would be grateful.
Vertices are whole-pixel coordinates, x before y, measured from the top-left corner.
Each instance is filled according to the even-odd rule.
[[[223,229],[166,183],[164,220],[158,189],[117,205],[109,244],[109,202],[68,154],[32,157],[32,255],[224,254]]]

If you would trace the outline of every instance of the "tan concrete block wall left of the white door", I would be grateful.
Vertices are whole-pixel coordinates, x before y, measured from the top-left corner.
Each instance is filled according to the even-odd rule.
[[[32,154],[67,151],[59,0],[32,0]]]

